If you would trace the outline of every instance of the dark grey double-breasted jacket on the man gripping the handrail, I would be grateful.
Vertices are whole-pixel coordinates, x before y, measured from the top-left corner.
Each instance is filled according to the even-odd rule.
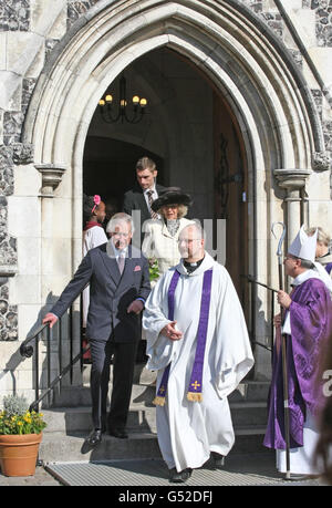
[[[87,252],[51,312],[61,318],[90,283],[86,336],[107,341],[114,332],[115,342],[134,342],[141,339],[141,320],[134,312],[127,313],[127,307],[137,298],[146,300],[151,292],[148,263],[141,250],[129,246],[121,276],[106,245]]]

